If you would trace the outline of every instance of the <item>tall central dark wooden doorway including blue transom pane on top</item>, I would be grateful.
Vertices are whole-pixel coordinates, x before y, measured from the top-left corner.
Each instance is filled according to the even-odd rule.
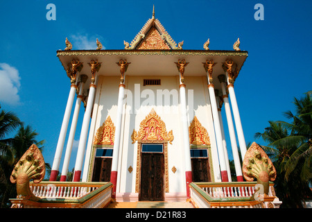
[[[140,201],[164,201],[164,144],[141,144]]]

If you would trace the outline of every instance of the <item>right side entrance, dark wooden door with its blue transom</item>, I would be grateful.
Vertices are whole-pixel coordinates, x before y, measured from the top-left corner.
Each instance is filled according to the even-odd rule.
[[[207,149],[191,149],[193,182],[211,182]]]

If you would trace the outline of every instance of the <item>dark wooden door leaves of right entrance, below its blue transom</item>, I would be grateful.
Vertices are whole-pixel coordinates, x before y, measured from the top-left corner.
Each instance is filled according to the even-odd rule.
[[[193,182],[211,182],[208,158],[192,158]]]

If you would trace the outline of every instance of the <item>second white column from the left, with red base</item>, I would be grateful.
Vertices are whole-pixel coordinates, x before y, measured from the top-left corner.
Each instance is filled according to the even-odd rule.
[[[87,78],[88,78],[87,75],[80,76],[79,94],[76,99],[75,110],[73,111],[73,119],[71,120],[71,129],[69,131],[69,137],[67,141],[66,153],[64,157],[64,163],[63,163],[62,175],[61,175],[60,181],[66,181],[66,178],[67,178],[69,160],[71,158],[71,148],[73,147],[73,139],[76,133],[76,126],[77,126],[77,121],[79,117],[80,104],[81,104],[81,100],[83,99],[83,87],[85,85]]]

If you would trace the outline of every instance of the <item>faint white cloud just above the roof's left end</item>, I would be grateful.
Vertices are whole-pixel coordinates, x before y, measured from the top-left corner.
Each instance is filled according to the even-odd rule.
[[[69,42],[73,44],[73,49],[96,49],[96,38],[101,42],[102,37],[98,35],[92,35],[91,37],[81,34],[71,35]],[[103,42],[101,43],[103,44]],[[105,49],[105,46],[102,49]]]

